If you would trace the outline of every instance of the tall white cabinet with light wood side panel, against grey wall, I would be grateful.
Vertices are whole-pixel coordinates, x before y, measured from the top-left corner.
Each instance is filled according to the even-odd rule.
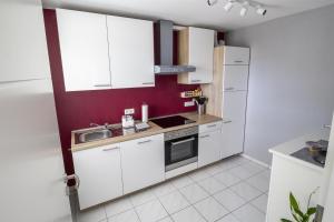
[[[202,85],[209,98],[207,112],[223,118],[222,153],[227,158],[244,150],[248,91],[249,49],[217,47],[214,56],[214,82]]]

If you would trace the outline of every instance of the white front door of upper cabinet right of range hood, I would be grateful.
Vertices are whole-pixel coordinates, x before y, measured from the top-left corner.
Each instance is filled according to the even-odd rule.
[[[210,83],[214,78],[215,31],[189,28],[189,64],[196,67],[189,73],[189,83]]]

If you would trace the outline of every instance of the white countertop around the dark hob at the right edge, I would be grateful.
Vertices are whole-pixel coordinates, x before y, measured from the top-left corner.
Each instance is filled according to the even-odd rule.
[[[323,171],[324,170],[323,168],[312,164],[310,162],[303,161],[295,157],[292,157],[291,154],[305,148],[306,141],[330,140],[330,132],[331,131],[328,129],[323,129],[323,130],[320,130],[314,133],[302,135],[299,138],[287,141],[285,143],[281,143],[279,145],[276,145],[276,147],[269,149],[269,152],[273,153],[274,155],[279,155],[279,157],[286,158],[291,161],[295,161],[296,163],[303,164],[307,168]]]

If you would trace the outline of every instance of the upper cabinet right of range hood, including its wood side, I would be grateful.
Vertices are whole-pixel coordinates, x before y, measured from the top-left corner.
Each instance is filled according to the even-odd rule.
[[[178,75],[178,83],[200,84],[213,82],[215,31],[189,27],[179,31],[178,63],[195,65],[195,72]]]

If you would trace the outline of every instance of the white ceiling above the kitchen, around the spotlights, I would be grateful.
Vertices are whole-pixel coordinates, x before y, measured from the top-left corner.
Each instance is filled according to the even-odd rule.
[[[234,30],[302,11],[333,4],[334,0],[257,0],[268,12],[265,17],[249,10],[239,16],[240,7],[224,11],[227,0],[213,7],[207,0],[42,0],[45,8],[65,8],[143,19],[167,19],[176,24]]]

